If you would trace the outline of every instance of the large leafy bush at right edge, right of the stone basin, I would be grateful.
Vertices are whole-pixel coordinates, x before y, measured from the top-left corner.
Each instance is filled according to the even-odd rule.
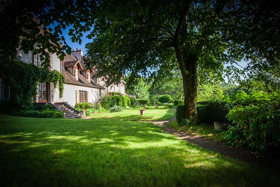
[[[227,114],[233,126],[223,132],[230,145],[247,145],[266,151],[280,146],[280,109],[278,105],[236,106]]]

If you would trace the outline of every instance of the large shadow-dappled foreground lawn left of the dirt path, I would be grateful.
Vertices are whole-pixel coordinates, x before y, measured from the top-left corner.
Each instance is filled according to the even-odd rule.
[[[147,122],[0,115],[0,186],[277,186]]]

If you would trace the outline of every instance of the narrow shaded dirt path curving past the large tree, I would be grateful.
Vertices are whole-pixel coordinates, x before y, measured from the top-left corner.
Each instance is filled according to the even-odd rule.
[[[207,140],[203,136],[194,136],[186,132],[178,132],[176,129],[170,128],[169,123],[174,121],[175,117],[163,121],[149,121],[161,127],[164,132],[170,133],[177,139],[185,140],[204,149],[212,150],[224,156],[238,159],[245,162],[251,162],[265,169],[271,169],[280,172],[280,153],[273,153],[272,156],[258,155],[255,151],[246,147],[228,146],[223,143]]]

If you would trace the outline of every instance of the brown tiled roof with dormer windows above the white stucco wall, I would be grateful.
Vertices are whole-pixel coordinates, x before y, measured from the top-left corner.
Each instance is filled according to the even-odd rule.
[[[103,86],[97,85],[92,81],[90,83],[82,73],[80,73],[79,80],[73,77],[72,74],[67,69],[65,70],[62,69],[62,74],[66,79],[66,83],[70,83],[70,84],[73,83],[73,84],[79,84],[81,86],[90,86],[94,88],[105,89]]]

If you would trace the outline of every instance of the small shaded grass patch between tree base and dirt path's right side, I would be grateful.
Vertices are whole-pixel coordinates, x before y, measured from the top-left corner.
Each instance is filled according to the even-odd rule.
[[[193,135],[204,136],[206,139],[211,139],[218,142],[224,142],[225,139],[222,138],[223,131],[217,131],[214,128],[214,125],[209,124],[198,124],[198,125],[189,125],[188,127],[182,127],[178,122],[173,121],[169,124],[171,128],[175,128],[178,132],[188,132]]]

